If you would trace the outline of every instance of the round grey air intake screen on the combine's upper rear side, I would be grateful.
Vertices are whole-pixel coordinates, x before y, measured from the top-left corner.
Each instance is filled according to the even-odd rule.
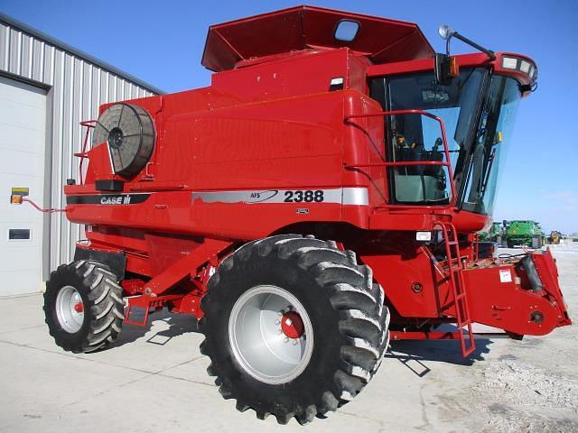
[[[92,136],[93,147],[104,142],[108,143],[115,173],[135,176],[153,153],[153,120],[140,106],[109,106],[98,117]]]

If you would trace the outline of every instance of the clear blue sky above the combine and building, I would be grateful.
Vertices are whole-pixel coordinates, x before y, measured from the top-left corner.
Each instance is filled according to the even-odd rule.
[[[0,0],[0,12],[104,60],[166,92],[210,85],[200,66],[207,29],[298,0]],[[546,232],[578,232],[578,2],[310,0],[310,5],[417,23],[436,51],[437,28],[493,51],[526,54],[538,88],[525,98],[503,164],[494,220],[534,219]],[[452,53],[471,52],[452,41]]]

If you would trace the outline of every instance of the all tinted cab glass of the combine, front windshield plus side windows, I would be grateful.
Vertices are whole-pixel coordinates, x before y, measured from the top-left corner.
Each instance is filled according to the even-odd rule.
[[[499,161],[520,98],[514,79],[489,80],[488,69],[470,68],[461,69],[449,86],[439,85],[433,71],[374,78],[370,83],[371,97],[385,110],[419,109],[443,119],[457,205],[480,214],[491,213]],[[435,120],[411,114],[388,116],[385,122],[388,161],[444,161]],[[387,170],[391,204],[443,205],[452,200],[446,167],[414,163]]]

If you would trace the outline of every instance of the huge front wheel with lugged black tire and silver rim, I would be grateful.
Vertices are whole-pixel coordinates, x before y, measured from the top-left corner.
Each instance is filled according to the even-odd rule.
[[[219,392],[238,410],[273,414],[280,424],[311,422],[354,398],[389,340],[371,270],[309,236],[244,245],[220,263],[201,307],[200,350]],[[287,318],[299,325],[284,327]]]

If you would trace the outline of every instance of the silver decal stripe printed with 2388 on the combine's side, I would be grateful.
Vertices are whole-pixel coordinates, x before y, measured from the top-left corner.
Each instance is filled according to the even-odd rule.
[[[301,191],[301,192],[299,192]],[[316,191],[322,191],[322,200],[308,201],[305,192],[311,191],[314,196]],[[298,194],[295,194],[298,193]],[[310,193],[310,194],[311,194]],[[299,198],[299,201],[295,198]],[[338,203],[342,205],[368,206],[367,188],[334,188],[334,189],[247,189],[240,191],[203,191],[193,192],[192,201],[197,199],[205,203]],[[285,201],[287,198],[291,198]]]

